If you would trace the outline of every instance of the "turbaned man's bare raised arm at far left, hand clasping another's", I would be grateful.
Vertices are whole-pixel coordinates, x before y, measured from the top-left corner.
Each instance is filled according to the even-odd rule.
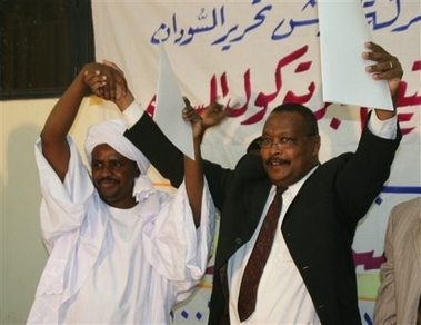
[[[92,88],[100,88],[103,87],[108,78],[104,75],[100,75],[98,71],[99,66],[99,63],[88,63],[83,67],[63,96],[54,105],[40,135],[42,154],[61,180],[66,177],[70,158],[67,135],[74,122],[83,96],[90,88],[88,83]],[[108,69],[110,70],[110,75],[113,75],[113,71],[111,71],[113,69]],[[113,83],[121,83],[121,87],[126,89],[126,81],[119,76],[116,76],[116,78]],[[107,89],[107,96],[110,96],[110,90],[109,88]],[[113,90],[112,96],[116,96],[114,93]]]

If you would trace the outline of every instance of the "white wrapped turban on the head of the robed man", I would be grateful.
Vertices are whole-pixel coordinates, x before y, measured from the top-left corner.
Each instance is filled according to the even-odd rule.
[[[137,201],[142,201],[154,191],[152,181],[146,176],[150,162],[147,157],[144,157],[143,154],[123,136],[126,129],[126,124],[121,119],[113,119],[93,125],[88,129],[84,149],[89,162],[91,162],[92,150],[94,147],[102,144],[109,145],[120,155],[136,161],[141,175],[136,179],[133,197],[136,197]]]

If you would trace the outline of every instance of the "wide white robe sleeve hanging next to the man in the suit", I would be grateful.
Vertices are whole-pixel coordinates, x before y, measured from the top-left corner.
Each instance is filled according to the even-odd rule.
[[[182,183],[162,206],[153,228],[143,234],[148,260],[173,282],[178,293],[190,290],[202,279],[214,227],[215,210],[208,185],[203,187],[200,227],[196,228]]]

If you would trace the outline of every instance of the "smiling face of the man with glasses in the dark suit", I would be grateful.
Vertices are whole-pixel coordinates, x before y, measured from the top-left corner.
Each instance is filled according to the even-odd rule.
[[[297,111],[271,112],[262,140],[260,156],[269,179],[277,186],[295,184],[319,164],[320,136]]]

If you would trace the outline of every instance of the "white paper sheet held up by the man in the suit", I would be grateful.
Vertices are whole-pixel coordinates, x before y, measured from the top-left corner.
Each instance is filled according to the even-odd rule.
[[[393,110],[387,80],[374,80],[361,56],[371,35],[359,0],[319,0],[323,100]]]

